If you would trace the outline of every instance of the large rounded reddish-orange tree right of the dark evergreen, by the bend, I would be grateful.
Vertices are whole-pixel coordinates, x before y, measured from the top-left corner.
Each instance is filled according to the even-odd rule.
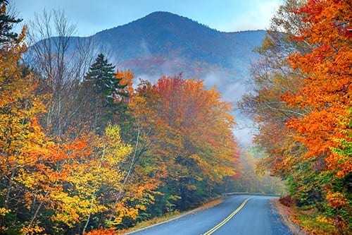
[[[156,85],[142,83],[130,105],[148,147],[139,161],[164,171],[160,203],[170,198],[184,210],[234,174],[234,119],[215,89],[206,90],[201,80],[162,77]]]

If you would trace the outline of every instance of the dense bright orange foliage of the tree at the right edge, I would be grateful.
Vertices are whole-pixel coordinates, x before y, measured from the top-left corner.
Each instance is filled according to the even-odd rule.
[[[310,112],[294,119],[288,126],[301,134],[308,147],[307,156],[325,155],[329,169],[343,177],[352,170],[351,159],[332,155],[331,147],[340,147],[335,139],[347,139],[351,107],[351,5],[347,1],[309,1],[296,11],[310,27],[294,40],[318,45],[312,52],[294,54],[293,68],[305,76],[298,92],[287,92],[283,98],[291,106],[309,107]]]

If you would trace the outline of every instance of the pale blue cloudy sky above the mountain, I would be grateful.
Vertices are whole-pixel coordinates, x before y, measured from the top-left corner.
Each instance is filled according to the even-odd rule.
[[[61,9],[77,36],[125,25],[154,11],[168,11],[222,32],[265,30],[282,0],[12,0],[23,22]]]

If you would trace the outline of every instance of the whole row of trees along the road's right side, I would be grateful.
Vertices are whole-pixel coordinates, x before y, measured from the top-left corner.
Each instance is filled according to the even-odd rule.
[[[312,234],[351,234],[351,2],[287,0],[239,106],[259,127],[258,170],[286,179]]]

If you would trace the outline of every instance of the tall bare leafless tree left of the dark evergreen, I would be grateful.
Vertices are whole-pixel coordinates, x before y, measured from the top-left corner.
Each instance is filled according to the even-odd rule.
[[[63,135],[75,120],[79,84],[94,58],[92,40],[75,40],[76,26],[63,11],[43,11],[29,23],[30,50],[25,62],[41,78],[39,91],[50,94],[41,123],[52,135]],[[75,138],[75,137],[73,137]]]

